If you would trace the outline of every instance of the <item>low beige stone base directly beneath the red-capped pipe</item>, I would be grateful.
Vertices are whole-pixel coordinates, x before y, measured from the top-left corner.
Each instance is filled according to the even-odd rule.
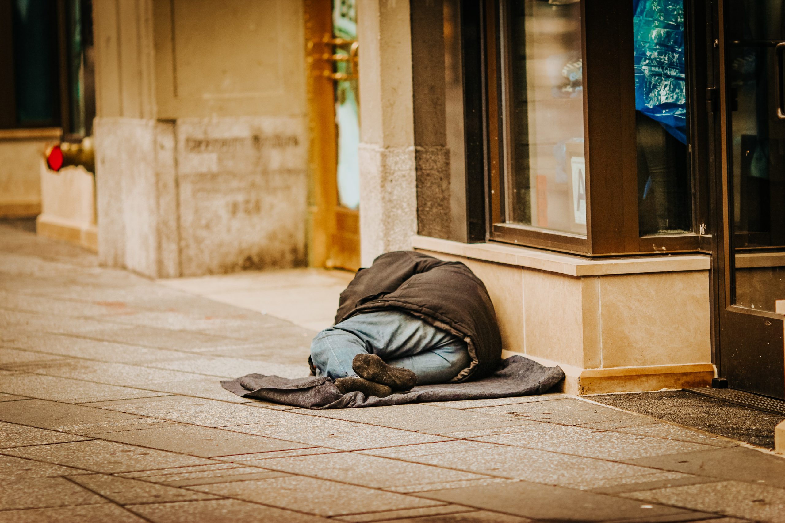
[[[98,251],[95,183],[81,167],[54,173],[40,160],[42,213],[35,231],[46,238],[64,240]]]

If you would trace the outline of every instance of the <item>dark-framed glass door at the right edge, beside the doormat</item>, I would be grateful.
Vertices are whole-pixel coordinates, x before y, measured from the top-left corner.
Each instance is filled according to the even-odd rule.
[[[721,376],[785,398],[785,4],[725,0]]]

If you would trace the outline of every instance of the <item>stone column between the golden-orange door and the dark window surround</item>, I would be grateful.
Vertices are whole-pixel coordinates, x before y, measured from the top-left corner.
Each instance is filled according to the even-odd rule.
[[[367,267],[411,249],[417,173],[408,0],[360,0],[360,245]]]

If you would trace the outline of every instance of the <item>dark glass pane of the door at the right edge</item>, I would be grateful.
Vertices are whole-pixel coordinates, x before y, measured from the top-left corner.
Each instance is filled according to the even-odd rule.
[[[730,0],[725,19],[734,303],[775,311],[785,300],[785,120],[777,116],[785,6]]]

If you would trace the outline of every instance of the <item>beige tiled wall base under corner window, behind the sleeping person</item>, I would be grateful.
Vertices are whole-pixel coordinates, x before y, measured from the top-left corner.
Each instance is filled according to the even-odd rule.
[[[567,392],[697,387],[714,377],[704,256],[586,260],[507,245],[412,242],[466,263],[491,295],[504,348],[560,365]]]

